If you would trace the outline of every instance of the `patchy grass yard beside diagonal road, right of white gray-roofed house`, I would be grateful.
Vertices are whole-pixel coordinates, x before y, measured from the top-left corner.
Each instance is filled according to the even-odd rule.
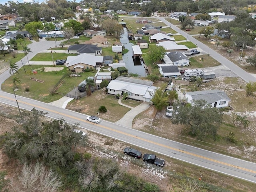
[[[203,61],[202,61],[203,58]],[[190,68],[204,68],[204,67],[215,67],[220,65],[218,61],[208,55],[195,56],[190,59]]]

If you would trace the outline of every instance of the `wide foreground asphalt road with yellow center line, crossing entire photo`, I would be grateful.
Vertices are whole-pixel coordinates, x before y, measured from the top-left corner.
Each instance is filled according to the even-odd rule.
[[[21,96],[17,96],[17,98],[20,108],[26,110],[31,110],[32,108],[43,110],[48,113],[47,116],[50,118],[64,118],[66,122],[70,124],[80,123],[80,128],[103,134],[184,162],[256,183],[255,163],[188,146],[104,120],[99,124],[93,124],[86,122],[87,116],[84,114]],[[0,102],[17,106],[14,95],[5,92],[0,92]],[[199,172],[194,174],[200,176]]]

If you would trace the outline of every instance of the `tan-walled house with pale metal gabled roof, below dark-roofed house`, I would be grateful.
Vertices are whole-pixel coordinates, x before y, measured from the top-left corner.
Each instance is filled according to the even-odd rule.
[[[96,68],[103,63],[103,56],[94,56],[90,54],[80,54],[77,56],[68,56],[66,63],[70,70],[75,70],[77,66],[82,69]]]

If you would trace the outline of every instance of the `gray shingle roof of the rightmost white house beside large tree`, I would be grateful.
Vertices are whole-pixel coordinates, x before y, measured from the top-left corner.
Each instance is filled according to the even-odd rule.
[[[221,90],[214,89],[214,90],[205,90],[205,91],[193,91],[187,92],[186,94],[191,95],[192,99],[194,100],[206,100],[207,103],[214,103],[218,100],[226,100],[230,101],[228,95]]]

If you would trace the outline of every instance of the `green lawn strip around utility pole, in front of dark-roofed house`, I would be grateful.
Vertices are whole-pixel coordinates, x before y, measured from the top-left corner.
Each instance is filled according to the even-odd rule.
[[[66,53],[55,53],[54,51],[51,53],[38,53],[34,56],[30,61],[55,61],[56,59],[67,59],[68,56],[76,56],[77,54],[66,54]]]

